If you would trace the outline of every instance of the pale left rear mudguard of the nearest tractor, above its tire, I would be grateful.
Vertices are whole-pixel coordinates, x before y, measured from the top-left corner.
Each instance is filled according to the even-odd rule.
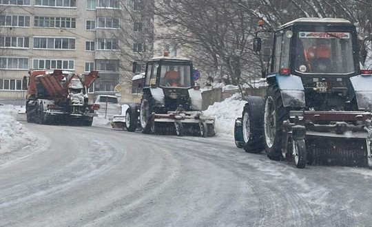
[[[304,85],[300,76],[276,75],[284,107],[305,107]]]

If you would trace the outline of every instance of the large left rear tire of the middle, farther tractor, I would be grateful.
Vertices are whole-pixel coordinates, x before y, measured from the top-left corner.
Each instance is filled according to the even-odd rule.
[[[149,134],[152,133],[152,111],[154,111],[154,100],[149,94],[146,92],[143,94],[141,100],[141,107],[140,107],[140,122],[142,127],[142,133]]]

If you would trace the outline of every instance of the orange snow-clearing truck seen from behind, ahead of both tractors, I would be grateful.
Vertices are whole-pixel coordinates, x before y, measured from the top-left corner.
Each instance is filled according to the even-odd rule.
[[[96,71],[80,75],[59,69],[30,70],[27,121],[91,126],[99,106],[90,103],[87,89],[96,78]]]

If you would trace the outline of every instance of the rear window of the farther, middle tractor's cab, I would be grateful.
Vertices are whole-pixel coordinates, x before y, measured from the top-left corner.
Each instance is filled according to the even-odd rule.
[[[190,65],[162,65],[160,85],[163,87],[191,87]]]

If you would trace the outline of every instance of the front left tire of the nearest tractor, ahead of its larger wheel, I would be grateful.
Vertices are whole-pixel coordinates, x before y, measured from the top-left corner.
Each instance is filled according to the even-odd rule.
[[[263,113],[265,102],[261,97],[249,96],[242,112],[243,148],[247,153],[260,153],[264,148]]]

